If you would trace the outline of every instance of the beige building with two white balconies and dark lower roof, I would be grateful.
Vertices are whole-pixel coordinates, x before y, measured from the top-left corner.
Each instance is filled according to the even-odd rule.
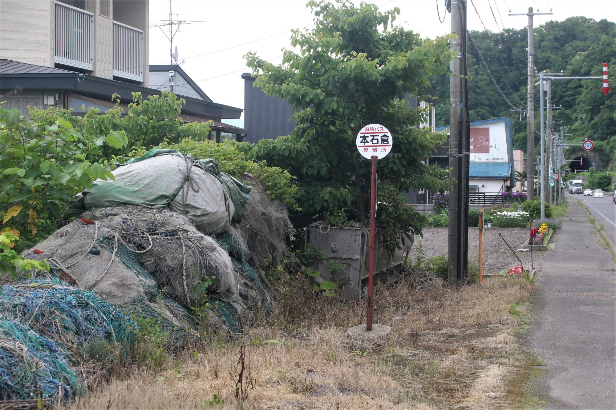
[[[150,88],[148,57],[149,0],[0,0],[0,95],[7,108],[67,108],[79,115],[90,107],[113,107],[111,95],[124,106],[132,92],[160,95]],[[160,44],[168,47],[169,44]],[[156,71],[156,67],[153,66]],[[177,65],[166,67],[188,77]],[[227,126],[242,110],[181,89],[187,121],[215,121],[213,138],[245,129]],[[17,87],[18,92],[11,92]],[[10,94],[7,94],[10,93]]]

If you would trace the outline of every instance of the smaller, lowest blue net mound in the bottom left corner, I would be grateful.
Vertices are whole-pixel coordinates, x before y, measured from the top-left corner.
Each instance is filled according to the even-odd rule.
[[[23,324],[0,318],[0,400],[57,395],[68,400],[78,392],[77,376],[61,348]]]

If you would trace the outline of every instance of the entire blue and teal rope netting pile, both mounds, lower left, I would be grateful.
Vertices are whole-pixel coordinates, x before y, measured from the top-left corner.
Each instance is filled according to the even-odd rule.
[[[57,279],[0,286],[0,400],[69,399],[81,392],[73,353],[94,340],[128,345],[137,326]]]

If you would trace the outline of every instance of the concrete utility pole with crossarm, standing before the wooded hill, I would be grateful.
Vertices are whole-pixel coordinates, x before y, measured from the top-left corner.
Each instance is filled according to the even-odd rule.
[[[533,16],[549,13],[533,13],[533,8],[529,7],[528,13],[512,14],[509,10],[509,15],[527,15],[529,17],[529,45],[528,45],[528,89],[527,89],[527,114],[526,114],[526,156],[527,156],[527,188],[526,195],[529,201],[535,199],[535,62],[534,62],[534,31],[533,31]]]

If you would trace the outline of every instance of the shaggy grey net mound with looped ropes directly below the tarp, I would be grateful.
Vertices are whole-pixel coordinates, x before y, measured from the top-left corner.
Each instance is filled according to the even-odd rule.
[[[177,212],[123,205],[92,209],[83,215],[126,244],[164,294],[185,306],[195,300],[195,284],[214,277],[214,290],[230,294],[237,279],[228,252]]]

